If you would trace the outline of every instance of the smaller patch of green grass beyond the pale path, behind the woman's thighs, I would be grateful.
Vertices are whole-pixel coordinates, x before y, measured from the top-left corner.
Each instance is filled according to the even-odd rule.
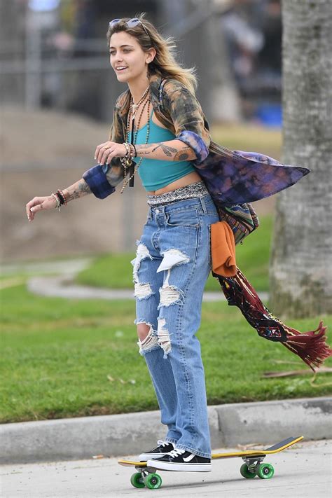
[[[272,216],[260,219],[260,226],[254,233],[237,244],[236,261],[249,282],[257,291],[268,290],[268,260],[272,235]],[[122,254],[104,254],[79,273],[76,282],[79,284],[110,287],[112,289],[132,289],[132,265],[134,252]],[[206,291],[219,291],[220,285],[209,275]]]

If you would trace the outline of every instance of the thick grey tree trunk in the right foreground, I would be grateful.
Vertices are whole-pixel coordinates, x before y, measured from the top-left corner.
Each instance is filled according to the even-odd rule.
[[[311,173],[278,195],[270,308],[332,312],[331,0],[283,0],[283,158]]]

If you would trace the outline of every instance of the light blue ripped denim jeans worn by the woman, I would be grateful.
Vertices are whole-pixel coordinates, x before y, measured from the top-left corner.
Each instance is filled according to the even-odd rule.
[[[210,225],[219,221],[209,194],[149,207],[132,261],[139,340],[161,413],[165,441],[211,457],[200,342],[202,294],[211,270]]]

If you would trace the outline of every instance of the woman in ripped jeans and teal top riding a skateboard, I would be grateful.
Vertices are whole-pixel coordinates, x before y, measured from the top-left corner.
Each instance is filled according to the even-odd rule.
[[[155,448],[142,448],[139,459],[157,469],[206,472],[212,468],[211,443],[196,333],[212,268],[210,227],[219,222],[216,200],[219,193],[225,195],[227,185],[230,204],[246,202],[243,195],[249,194],[237,188],[242,176],[235,170],[230,174],[233,184],[226,168],[216,174],[216,149],[211,149],[207,120],[195,97],[195,74],[177,63],[172,41],[144,15],[109,22],[107,41],[111,67],[127,86],[116,101],[109,140],[97,146],[95,167],[75,184],[32,199],[27,216],[33,221],[41,210],[60,208],[91,193],[106,198],[117,186],[122,193],[138,174],[148,214],[132,261],[137,344],[151,375],[161,422],[168,428]],[[225,151],[219,151],[223,161],[232,159]],[[234,157],[228,166],[238,165],[243,172],[248,163],[248,174],[256,165],[271,167],[256,156]],[[291,170],[271,175],[261,197],[255,173],[254,195],[271,195],[307,173],[305,168]],[[246,182],[249,192],[251,184]],[[142,431],[148,431],[144,420]]]

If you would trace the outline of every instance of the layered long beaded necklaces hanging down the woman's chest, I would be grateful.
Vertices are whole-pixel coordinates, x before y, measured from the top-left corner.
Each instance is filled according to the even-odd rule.
[[[141,116],[144,113],[144,109],[147,107],[147,114],[148,114],[148,122],[147,122],[147,127],[146,127],[146,139],[145,139],[145,144],[148,144],[148,137],[150,135],[150,99],[148,98],[148,88],[146,88],[144,94],[141,96],[139,99],[139,102],[137,104],[134,104],[134,100],[132,97],[130,98],[130,108],[128,111],[127,115],[127,125],[126,125],[126,136],[125,136],[125,141],[128,143],[129,142],[129,134],[130,134],[130,127],[131,127],[131,144],[135,145],[137,141],[137,134],[139,132],[139,125],[141,123]],[[141,106],[141,112],[139,114],[137,126],[134,125],[134,119],[136,116],[136,113]],[[131,126],[130,126],[131,122]],[[120,193],[123,193],[125,190],[125,187],[127,184],[130,186],[134,186],[134,174],[137,172],[139,169],[139,166],[141,165],[143,158],[139,159],[138,164],[136,164],[132,159],[130,160],[123,160],[123,167],[124,167],[124,178],[123,178],[123,186],[121,188]],[[129,172],[127,172],[129,170]]]

